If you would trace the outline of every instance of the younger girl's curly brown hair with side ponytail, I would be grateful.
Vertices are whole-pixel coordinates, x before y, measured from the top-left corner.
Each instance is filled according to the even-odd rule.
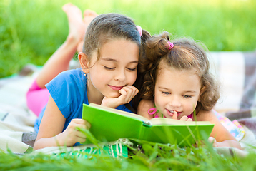
[[[200,78],[200,101],[196,110],[211,110],[220,98],[220,84],[210,73],[210,63],[207,58],[207,48],[203,43],[190,38],[172,40],[174,47],[169,49],[169,33],[152,36],[146,42],[144,58],[142,59],[142,73],[144,84],[141,98],[154,100],[154,86],[159,71],[159,63],[166,63],[168,67],[178,70],[196,69]]]

